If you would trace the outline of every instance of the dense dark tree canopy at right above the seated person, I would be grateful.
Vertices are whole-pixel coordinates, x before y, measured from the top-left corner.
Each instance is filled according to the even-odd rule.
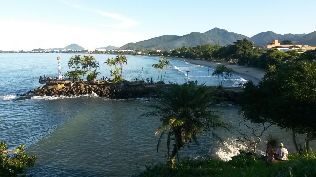
[[[253,122],[273,122],[307,135],[306,147],[316,136],[316,61],[299,60],[270,65],[258,86],[246,83],[241,110]]]

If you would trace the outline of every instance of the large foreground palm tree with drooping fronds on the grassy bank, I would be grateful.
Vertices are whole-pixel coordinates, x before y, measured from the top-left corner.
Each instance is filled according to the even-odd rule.
[[[170,82],[169,82],[170,83]],[[175,157],[181,148],[193,141],[197,145],[197,135],[211,135],[215,140],[223,140],[213,131],[225,129],[230,131],[230,126],[222,122],[216,111],[209,110],[218,98],[215,97],[214,88],[204,85],[195,88],[194,83],[170,83],[170,87],[163,88],[158,104],[148,106],[150,112],[143,113],[141,117],[158,117],[162,124],[157,128],[155,135],[161,134],[157,144],[157,151],[161,141],[167,133],[167,157],[170,167],[173,167]],[[170,141],[173,141],[173,150],[169,154]],[[178,157],[179,161],[179,157]]]

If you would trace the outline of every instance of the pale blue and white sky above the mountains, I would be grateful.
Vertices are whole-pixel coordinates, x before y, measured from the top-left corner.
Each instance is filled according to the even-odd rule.
[[[215,27],[252,37],[316,31],[315,0],[14,0],[0,2],[0,50],[121,47]]]

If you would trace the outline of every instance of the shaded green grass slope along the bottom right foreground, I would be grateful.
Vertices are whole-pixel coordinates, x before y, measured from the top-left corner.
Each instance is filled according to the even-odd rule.
[[[186,176],[237,176],[237,177],[296,177],[316,176],[316,154],[291,154],[289,161],[267,162],[260,157],[240,155],[227,162],[208,157],[187,158],[170,170],[167,163],[146,166],[133,177],[186,177]]]

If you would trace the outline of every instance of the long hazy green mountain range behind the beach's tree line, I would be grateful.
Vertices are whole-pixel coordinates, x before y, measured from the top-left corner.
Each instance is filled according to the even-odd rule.
[[[156,50],[162,47],[162,50],[175,49],[177,47],[182,47],[186,45],[187,47],[193,47],[196,45],[202,45],[210,43],[212,45],[220,44],[233,44],[236,40],[241,38],[246,38],[249,41],[253,41],[256,46],[265,45],[268,41],[272,40],[291,40],[296,44],[304,44],[315,46],[316,45],[316,31],[309,34],[277,34],[272,31],[266,31],[258,33],[252,37],[247,37],[242,34],[228,32],[227,30],[214,28],[212,30],[206,31],[204,33],[191,32],[183,36],[177,35],[163,35],[159,37],[154,37],[148,40],[140,41],[137,43],[127,43],[120,47],[119,49],[149,49]]]

